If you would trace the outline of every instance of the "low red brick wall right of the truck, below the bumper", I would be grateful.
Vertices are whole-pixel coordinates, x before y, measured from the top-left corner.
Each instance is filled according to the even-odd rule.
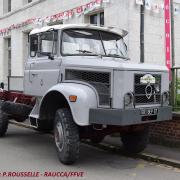
[[[180,147],[180,117],[152,124],[150,135],[150,140],[154,143]]]

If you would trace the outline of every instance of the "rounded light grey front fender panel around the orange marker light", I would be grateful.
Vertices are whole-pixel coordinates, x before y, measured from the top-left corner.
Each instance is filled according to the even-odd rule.
[[[76,124],[80,126],[90,125],[89,109],[98,107],[98,97],[95,90],[91,86],[70,82],[57,84],[46,92],[45,96],[40,102],[40,108],[43,100],[46,98],[46,95],[53,91],[59,92],[65,97],[66,101],[69,104],[73,119]],[[77,101],[70,102],[70,95],[76,95]]]

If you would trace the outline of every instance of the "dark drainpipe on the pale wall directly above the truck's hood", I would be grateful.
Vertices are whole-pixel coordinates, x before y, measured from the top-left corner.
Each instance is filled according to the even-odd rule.
[[[144,12],[145,1],[140,9],[140,63],[144,63]]]

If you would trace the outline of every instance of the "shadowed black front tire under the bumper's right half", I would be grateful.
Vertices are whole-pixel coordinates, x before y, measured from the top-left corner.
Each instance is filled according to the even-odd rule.
[[[121,140],[126,152],[130,154],[138,154],[142,152],[149,141],[149,128],[141,131],[128,132],[121,134]]]

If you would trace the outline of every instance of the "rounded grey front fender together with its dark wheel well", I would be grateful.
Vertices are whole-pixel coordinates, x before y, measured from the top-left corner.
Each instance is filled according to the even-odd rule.
[[[69,96],[76,95],[77,101],[70,102]],[[39,119],[53,120],[60,108],[69,108],[77,125],[89,125],[89,109],[97,108],[96,92],[84,84],[61,83],[52,87],[40,102]]]

